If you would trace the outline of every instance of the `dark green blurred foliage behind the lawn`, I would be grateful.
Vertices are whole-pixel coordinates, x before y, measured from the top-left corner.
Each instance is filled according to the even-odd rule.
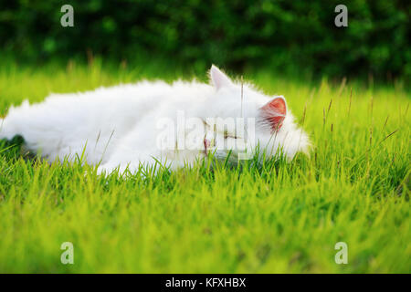
[[[0,54],[20,62],[99,55],[195,68],[380,79],[411,76],[411,1],[0,0]],[[62,5],[74,27],[60,26]],[[334,26],[336,5],[348,27]],[[311,74],[310,73],[310,74]]]

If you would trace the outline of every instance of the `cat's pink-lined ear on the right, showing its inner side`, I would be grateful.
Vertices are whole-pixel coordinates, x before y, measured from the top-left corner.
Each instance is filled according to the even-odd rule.
[[[278,131],[287,115],[287,104],[283,97],[279,96],[269,101],[261,109],[261,115],[269,122],[272,130]]]

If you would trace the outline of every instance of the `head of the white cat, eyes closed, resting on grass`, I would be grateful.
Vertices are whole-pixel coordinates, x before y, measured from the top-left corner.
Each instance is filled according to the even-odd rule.
[[[307,152],[307,134],[294,122],[286,99],[267,96],[250,84],[235,82],[220,69],[209,71],[213,96],[203,110],[204,153],[220,160],[247,160],[258,151],[266,159],[284,154],[292,159]]]

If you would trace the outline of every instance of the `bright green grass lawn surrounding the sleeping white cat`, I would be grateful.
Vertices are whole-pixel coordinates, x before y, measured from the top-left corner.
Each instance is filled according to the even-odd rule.
[[[0,68],[0,113],[50,91],[192,73],[166,64],[11,62]],[[244,77],[287,98],[310,133],[310,157],[214,171],[198,165],[142,180],[49,165],[3,143],[0,272],[411,272],[409,92],[399,82]],[[341,241],[347,265],[334,262]],[[74,265],[60,263],[63,242],[74,245]]]

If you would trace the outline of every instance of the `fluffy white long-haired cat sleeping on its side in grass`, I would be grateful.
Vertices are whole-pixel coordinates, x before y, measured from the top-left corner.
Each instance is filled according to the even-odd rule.
[[[142,81],[25,101],[0,119],[0,139],[21,135],[28,150],[49,161],[84,153],[90,164],[100,163],[99,172],[135,172],[156,162],[175,169],[210,152],[237,162],[256,151],[260,159],[307,151],[307,134],[283,97],[235,83],[215,66],[209,73],[211,86]]]

